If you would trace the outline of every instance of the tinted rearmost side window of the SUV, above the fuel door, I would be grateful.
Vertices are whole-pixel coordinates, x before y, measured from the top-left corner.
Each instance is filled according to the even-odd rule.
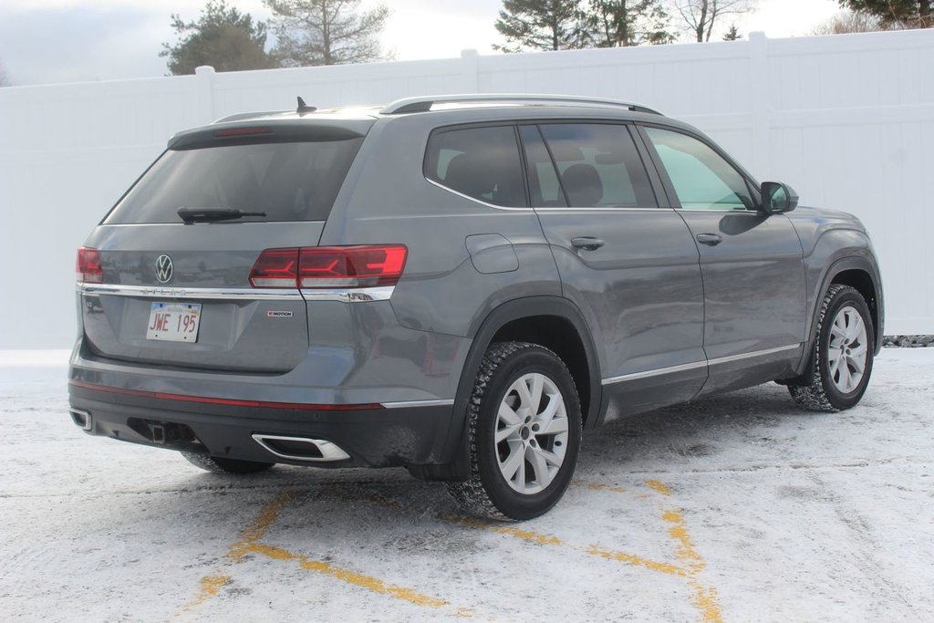
[[[488,204],[526,206],[511,125],[436,132],[428,141],[425,177]]]

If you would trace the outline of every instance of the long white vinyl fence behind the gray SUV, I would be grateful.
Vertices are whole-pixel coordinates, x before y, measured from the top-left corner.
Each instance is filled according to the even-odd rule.
[[[67,347],[74,255],[166,139],[234,112],[546,92],[641,102],[804,205],[855,213],[885,333],[934,333],[934,30],[214,73],[0,89],[0,348]],[[931,179],[928,179],[931,177]],[[928,182],[931,182],[929,185]]]

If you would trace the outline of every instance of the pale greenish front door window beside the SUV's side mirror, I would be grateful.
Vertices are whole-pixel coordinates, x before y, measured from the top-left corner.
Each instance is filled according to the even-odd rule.
[[[745,179],[714,149],[680,132],[645,128],[686,210],[755,209]]]

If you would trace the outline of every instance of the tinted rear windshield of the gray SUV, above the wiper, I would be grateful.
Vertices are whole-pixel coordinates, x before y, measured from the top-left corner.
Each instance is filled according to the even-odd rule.
[[[242,220],[326,220],[362,140],[169,149],[104,224],[178,223],[179,207],[266,213]]]

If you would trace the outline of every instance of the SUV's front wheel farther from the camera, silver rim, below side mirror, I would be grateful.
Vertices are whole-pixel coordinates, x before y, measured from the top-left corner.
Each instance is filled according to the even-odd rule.
[[[830,286],[821,302],[807,384],[789,385],[795,402],[811,411],[856,406],[872,374],[875,334],[869,305],[855,288]]]

